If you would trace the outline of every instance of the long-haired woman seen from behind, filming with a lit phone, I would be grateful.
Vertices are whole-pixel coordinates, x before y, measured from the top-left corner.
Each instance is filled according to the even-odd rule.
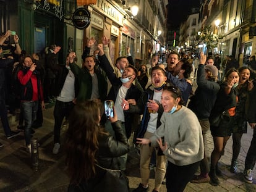
[[[66,164],[69,191],[129,191],[127,178],[118,170],[117,157],[129,151],[121,122],[109,117],[115,136],[100,125],[103,106],[97,100],[76,104],[69,117],[66,135]],[[109,181],[108,173],[117,178]]]

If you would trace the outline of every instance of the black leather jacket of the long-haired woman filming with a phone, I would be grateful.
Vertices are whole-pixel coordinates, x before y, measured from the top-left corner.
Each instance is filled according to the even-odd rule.
[[[112,123],[114,130],[114,136],[111,135],[99,135],[99,149],[96,152],[97,164],[105,169],[118,170],[117,157],[120,157],[129,152],[129,144],[126,138],[126,134],[121,128],[121,122],[117,121]],[[105,170],[96,166],[96,175],[90,178],[88,181],[81,182],[79,185],[69,185],[69,192],[119,192],[129,191],[128,183],[124,183],[124,186],[116,188],[116,186],[121,186],[121,183],[116,183],[120,181],[119,178],[107,178]],[[125,177],[121,172],[122,177]],[[118,175],[117,173],[117,175]],[[118,175],[121,177],[121,175]],[[111,180],[112,179],[112,180]],[[112,183],[111,183],[112,182]]]

